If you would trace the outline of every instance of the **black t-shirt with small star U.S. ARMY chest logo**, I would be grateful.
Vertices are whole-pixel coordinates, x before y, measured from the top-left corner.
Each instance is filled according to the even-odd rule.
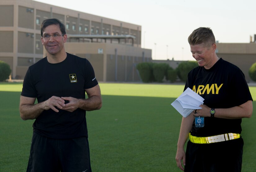
[[[67,53],[67,58],[60,63],[51,64],[45,57],[30,66],[21,95],[37,98],[38,103],[52,96],[85,99],[85,89],[97,84],[90,62]],[[34,121],[34,132],[55,139],[88,137],[85,116],[86,111],[82,109],[74,112],[44,110]]]

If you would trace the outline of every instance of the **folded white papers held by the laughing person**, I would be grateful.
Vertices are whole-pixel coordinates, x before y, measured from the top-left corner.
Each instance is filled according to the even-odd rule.
[[[193,110],[201,109],[203,103],[204,98],[187,88],[171,105],[186,118]]]

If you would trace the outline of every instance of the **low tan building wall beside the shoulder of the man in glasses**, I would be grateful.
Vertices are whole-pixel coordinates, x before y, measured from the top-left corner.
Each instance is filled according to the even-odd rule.
[[[104,82],[141,81],[136,64],[152,60],[151,50],[120,44],[66,42],[65,51],[87,58]]]

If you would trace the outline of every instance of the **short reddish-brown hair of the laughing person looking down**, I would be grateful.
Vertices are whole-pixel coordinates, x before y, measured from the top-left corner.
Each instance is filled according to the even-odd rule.
[[[205,44],[205,46],[211,46],[216,41],[212,29],[200,27],[189,35],[188,43],[189,45]]]

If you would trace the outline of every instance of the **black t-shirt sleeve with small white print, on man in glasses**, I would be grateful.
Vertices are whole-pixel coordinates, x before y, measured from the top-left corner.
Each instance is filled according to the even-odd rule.
[[[85,60],[85,82],[84,82],[84,89],[92,88],[98,85],[98,81],[95,77],[95,73],[92,67],[92,64]]]

